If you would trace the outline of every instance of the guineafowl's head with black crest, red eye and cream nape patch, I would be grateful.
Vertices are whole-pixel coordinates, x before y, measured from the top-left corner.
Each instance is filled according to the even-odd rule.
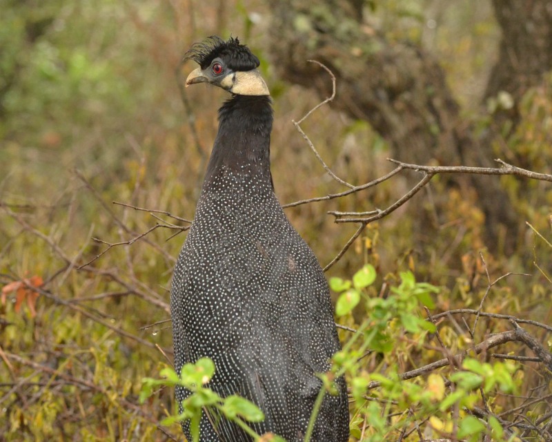
[[[211,36],[192,46],[184,60],[199,64],[186,79],[190,84],[209,83],[234,95],[270,95],[268,87],[257,70],[261,62],[237,38],[228,41]]]

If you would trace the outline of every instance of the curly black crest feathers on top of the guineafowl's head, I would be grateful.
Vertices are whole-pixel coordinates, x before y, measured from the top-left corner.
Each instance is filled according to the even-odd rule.
[[[217,57],[223,59],[232,70],[252,70],[261,64],[246,45],[239,44],[239,39],[230,37],[228,41],[224,41],[216,35],[193,44],[184,55],[184,60],[193,60],[201,69],[205,69]]]

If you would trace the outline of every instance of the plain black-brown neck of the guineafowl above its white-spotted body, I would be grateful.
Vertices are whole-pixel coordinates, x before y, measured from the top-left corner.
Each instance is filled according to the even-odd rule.
[[[235,95],[219,109],[219,132],[207,167],[204,186],[217,173],[271,181],[270,132],[273,108],[268,96]]]

